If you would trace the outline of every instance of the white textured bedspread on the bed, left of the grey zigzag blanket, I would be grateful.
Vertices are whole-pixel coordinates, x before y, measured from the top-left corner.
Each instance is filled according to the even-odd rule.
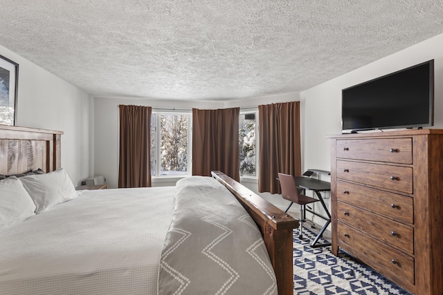
[[[173,197],[84,191],[0,231],[0,294],[156,294]]]

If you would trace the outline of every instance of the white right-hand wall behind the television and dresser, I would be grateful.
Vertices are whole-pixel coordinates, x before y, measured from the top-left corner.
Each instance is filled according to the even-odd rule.
[[[443,128],[443,34],[398,53],[357,68],[350,73],[302,91],[305,101],[305,138],[303,166],[329,170],[330,151],[327,135],[341,133],[341,90],[388,73],[435,59],[435,100],[433,128]]]

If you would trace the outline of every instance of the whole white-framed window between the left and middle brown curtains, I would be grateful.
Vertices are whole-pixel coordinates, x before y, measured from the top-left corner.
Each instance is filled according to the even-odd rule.
[[[188,174],[188,122],[188,114],[152,113],[151,175]]]

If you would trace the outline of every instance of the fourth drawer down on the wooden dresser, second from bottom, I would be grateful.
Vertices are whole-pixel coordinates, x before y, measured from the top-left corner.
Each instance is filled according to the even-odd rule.
[[[376,205],[372,203],[372,205]],[[343,202],[337,202],[337,219],[408,254],[414,254],[414,229]]]

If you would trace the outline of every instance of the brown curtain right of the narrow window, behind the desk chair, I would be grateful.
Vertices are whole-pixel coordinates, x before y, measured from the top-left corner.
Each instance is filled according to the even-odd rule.
[[[260,193],[280,193],[278,173],[301,175],[300,102],[258,106]]]

